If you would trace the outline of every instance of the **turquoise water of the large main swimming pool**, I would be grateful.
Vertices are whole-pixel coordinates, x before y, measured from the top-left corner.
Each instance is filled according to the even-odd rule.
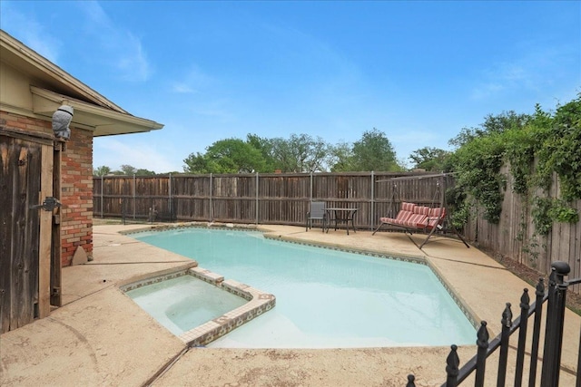
[[[475,328],[425,265],[267,239],[256,231],[192,227],[133,237],[276,296],[270,312],[212,347],[474,343]]]

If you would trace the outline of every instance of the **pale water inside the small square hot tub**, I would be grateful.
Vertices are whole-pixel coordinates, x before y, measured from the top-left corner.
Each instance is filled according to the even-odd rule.
[[[125,294],[178,336],[248,302],[187,275],[141,286]]]

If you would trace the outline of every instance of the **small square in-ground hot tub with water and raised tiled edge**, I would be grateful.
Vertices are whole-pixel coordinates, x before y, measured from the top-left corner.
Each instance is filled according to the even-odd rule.
[[[172,334],[191,346],[205,345],[271,310],[269,295],[192,267],[152,276],[121,290]]]

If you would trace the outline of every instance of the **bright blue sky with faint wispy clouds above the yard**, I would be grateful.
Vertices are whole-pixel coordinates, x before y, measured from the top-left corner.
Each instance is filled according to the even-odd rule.
[[[216,140],[386,133],[399,160],[581,92],[581,2],[8,1],[0,25],[162,131],[94,167],[182,171]]]

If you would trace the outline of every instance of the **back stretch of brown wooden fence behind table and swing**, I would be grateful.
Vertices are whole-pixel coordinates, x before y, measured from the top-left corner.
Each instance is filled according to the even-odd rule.
[[[389,184],[402,176],[425,178]],[[387,172],[95,177],[94,216],[298,226],[310,200],[322,200],[359,208],[355,226],[372,229],[402,200],[438,207],[440,179]]]

